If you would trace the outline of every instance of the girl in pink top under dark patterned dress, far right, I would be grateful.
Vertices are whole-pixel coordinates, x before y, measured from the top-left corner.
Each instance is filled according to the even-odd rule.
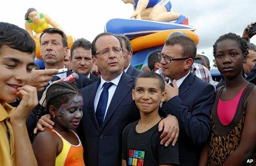
[[[216,91],[210,142],[199,165],[256,164],[256,87],[242,76],[248,45],[236,34],[220,36],[214,57],[226,85]],[[250,160],[251,161],[251,160]]]

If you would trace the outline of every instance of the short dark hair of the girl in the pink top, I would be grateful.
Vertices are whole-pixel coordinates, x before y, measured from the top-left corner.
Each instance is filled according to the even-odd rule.
[[[214,56],[216,54],[216,47],[217,47],[218,42],[220,42],[222,40],[226,40],[226,39],[236,41],[238,43],[243,55],[244,54],[246,54],[246,56],[248,55],[248,53],[249,53],[248,52],[248,44],[247,44],[246,40],[242,39],[239,35],[236,35],[234,33],[228,33],[228,34],[220,36],[220,38],[218,38],[215,41],[215,44],[213,45],[214,46]]]

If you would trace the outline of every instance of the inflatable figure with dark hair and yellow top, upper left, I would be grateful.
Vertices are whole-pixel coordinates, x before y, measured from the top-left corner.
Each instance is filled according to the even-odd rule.
[[[52,20],[49,15],[38,13],[36,9],[29,8],[25,14],[25,29],[28,31],[30,36],[34,39],[39,38],[42,31],[50,28],[49,24],[53,28],[58,28],[63,31],[60,25],[58,25],[54,20]],[[33,31],[35,35],[33,35]]]

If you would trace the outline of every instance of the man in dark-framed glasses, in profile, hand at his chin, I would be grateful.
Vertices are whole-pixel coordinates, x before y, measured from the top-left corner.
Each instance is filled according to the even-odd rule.
[[[198,165],[203,144],[211,130],[210,110],[214,104],[214,87],[190,72],[196,44],[186,36],[167,39],[158,53],[166,84],[167,99],[162,105],[166,115],[177,117],[180,128],[180,165]]]

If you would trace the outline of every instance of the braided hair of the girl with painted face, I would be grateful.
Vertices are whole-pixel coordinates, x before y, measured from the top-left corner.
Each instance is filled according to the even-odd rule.
[[[75,85],[63,81],[51,84],[46,92],[46,110],[49,111],[51,105],[56,109],[60,108],[63,103],[67,103],[74,95],[81,95]]]

